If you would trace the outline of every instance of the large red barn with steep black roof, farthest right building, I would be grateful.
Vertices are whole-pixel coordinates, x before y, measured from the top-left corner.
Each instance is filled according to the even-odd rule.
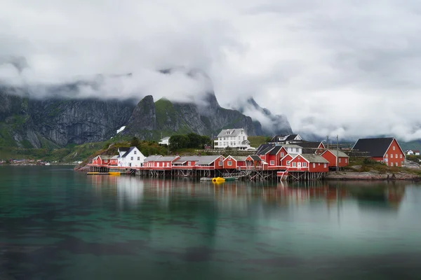
[[[390,167],[403,167],[405,153],[393,137],[358,139],[352,147],[354,155],[370,157],[377,162],[384,162]]]

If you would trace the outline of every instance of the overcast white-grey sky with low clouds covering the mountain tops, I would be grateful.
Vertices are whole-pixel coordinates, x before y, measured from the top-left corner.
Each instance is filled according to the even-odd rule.
[[[253,97],[295,132],[409,141],[421,139],[420,13],[415,0],[3,0],[0,83],[133,73],[81,94],[187,100],[213,88],[222,106]],[[157,71],[178,67],[212,83]]]

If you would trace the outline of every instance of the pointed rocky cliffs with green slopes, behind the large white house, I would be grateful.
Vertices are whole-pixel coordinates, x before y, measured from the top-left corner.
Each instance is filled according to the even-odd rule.
[[[139,102],[123,133],[141,139],[153,137],[154,130],[164,134],[194,132],[210,136],[227,127],[244,127],[251,136],[262,134],[260,123],[253,122],[239,111],[223,109],[213,93],[207,94],[199,105],[167,99],[154,103],[152,96],[145,97]]]

